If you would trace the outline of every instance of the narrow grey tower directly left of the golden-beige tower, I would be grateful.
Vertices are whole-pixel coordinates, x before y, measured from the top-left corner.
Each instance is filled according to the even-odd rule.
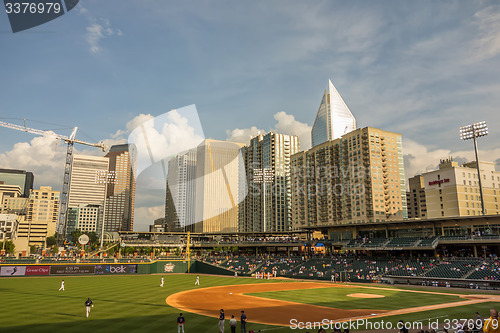
[[[184,230],[195,222],[196,154],[194,148],[168,161],[165,224],[173,230]]]

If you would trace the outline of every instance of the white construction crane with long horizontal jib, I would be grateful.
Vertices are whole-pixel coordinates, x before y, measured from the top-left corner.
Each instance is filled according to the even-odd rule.
[[[62,140],[66,142],[66,144],[68,145],[68,148],[66,149],[66,164],[64,166],[64,181],[59,202],[59,220],[57,223],[57,242],[59,245],[61,245],[66,239],[66,231],[67,231],[68,194],[69,194],[69,183],[71,179],[71,163],[73,161],[73,145],[75,143],[79,143],[86,146],[101,148],[102,151],[106,150],[106,145],[102,141],[98,143],[89,143],[75,139],[78,127],[74,127],[73,131],[71,132],[71,135],[67,137],[65,135],[55,134],[52,131],[44,131],[44,130],[29,128],[26,126],[26,119],[24,119],[24,126],[10,124],[3,121],[0,121],[0,126],[37,135],[43,135],[43,136],[49,135],[56,138],[57,140]]]

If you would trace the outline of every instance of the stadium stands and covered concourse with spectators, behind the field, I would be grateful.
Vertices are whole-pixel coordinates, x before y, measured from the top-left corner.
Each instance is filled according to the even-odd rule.
[[[2,264],[198,263],[186,271],[443,287],[500,287],[500,216],[306,227],[291,232],[195,234],[122,232],[101,259],[78,251]],[[182,272],[177,265],[177,272]],[[184,266],[183,266],[184,267]],[[149,272],[167,272],[151,266]]]

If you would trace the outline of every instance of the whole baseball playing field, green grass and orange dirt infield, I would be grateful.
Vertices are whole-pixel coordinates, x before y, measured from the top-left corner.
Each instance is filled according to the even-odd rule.
[[[351,331],[396,332],[388,323],[453,328],[476,311],[484,318],[500,307],[491,291],[205,275],[195,286],[193,274],[164,277],[160,287],[161,275],[67,276],[65,291],[58,291],[61,277],[2,278],[0,332],[177,332],[179,312],[186,332],[217,332],[220,308],[226,319],[245,310],[247,331],[317,332],[322,322],[330,333],[334,323],[351,319]],[[88,297],[95,306],[87,319]]]

